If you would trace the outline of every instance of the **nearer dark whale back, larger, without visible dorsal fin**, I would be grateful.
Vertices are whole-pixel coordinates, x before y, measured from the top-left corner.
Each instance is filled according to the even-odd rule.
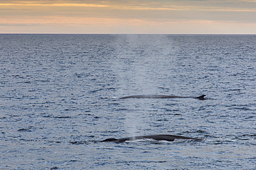
[[[201,141],[202,139],[198,138],[189,138],[185,136],[176,136],[176,135],[148,135],[148,136],[133,136],[128,138],[107,138],[102,140],[101,142],[125,142],[127,140],[138,140],[138,139],[154,139],[154,140],[167,140],[167,141],[174,141],[175,139],[191,139]]]

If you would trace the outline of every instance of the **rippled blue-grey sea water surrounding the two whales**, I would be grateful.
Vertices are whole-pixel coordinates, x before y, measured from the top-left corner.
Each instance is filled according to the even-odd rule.
[[[0,169],[256,169],[255,44],[0,34]],[[136,94],[208,100],[118,99]],[[204,140],[99,142],[151,134]]]

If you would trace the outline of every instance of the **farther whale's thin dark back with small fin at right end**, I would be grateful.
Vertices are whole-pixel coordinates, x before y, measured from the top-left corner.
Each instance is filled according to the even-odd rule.
[[[125,96],[120,99],[125,98],[197,98],[199,100],[206,100],[204,98],[205,95],[198,96],[198,97],[183,97],[183,96],[165,96],[165,95],[134,95],[134,96]]]

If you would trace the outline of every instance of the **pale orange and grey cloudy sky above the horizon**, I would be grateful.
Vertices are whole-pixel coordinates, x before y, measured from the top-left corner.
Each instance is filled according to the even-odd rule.
[[[0,0],[0,33],[256,34],[256,0]]]

